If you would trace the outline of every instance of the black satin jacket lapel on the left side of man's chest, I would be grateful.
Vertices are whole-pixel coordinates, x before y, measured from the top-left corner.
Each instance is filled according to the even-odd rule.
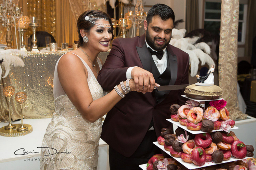
[[[152,73],[152,67],[151,67],[151,62],[150,62],[150,58],[149,58],[149,57],[151,57],[151,54],[147,48],[146,43],[143,45],[142,48],[141,47],[136,47],[136,48],[137,48],[137,52],[139,54],[143,69]]]

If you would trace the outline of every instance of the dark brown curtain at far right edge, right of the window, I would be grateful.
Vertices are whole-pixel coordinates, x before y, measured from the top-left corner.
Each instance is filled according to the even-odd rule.
[[[252,40],[256,36],[256,1],[248,0],[244,56],[252,56]]]

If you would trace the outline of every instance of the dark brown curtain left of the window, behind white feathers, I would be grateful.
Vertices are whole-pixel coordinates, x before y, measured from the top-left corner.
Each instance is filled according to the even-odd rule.
[[[199,28],[198,0],[187,0],[186,2],[186,30],[187,33]]]

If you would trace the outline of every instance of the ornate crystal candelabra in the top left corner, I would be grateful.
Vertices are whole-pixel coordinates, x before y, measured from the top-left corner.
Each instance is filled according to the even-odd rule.
[[[21,8],[17,6],[14,0],[2,0],[0,5],[0,22],[2,26],[6,27],[6,42],[7,46],[5,49],[12,48],[12,33],[11,26],[14,24],[16,27],[16,20],[22,15]],[[16,28],[15,28],[16,29]],[[17,44],[17,34],[15,30],[15,38]]]

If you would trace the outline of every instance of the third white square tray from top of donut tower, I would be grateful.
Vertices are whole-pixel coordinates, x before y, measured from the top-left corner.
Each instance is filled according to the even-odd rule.
[[[153,143],[171,156],[170,151],[165,150],[163,145],[160,145],[158,142],[153,142]],[[242,160],[242,159],[237,159],[237,158],[231,156],[231,158],[229,160],[222,161],[221,163],[215,163],[212,161],[212,162],[205,162],[205,164],[203,166],[197,166],[197,165],[194,165],[193,163],[184,162],[181,158],[177,158],[177,157],[173,157],[173,158],[176,159],[178,162],[180,162],[182,165],[184,165],[188,169],[196,169],[196,168],[201,168],[201,167],[206,167],[206,166],[211,166],[211,165],[222,164],[222,163],[226,163],[226,162]],[[245,157],[244,159],[247,159],[247,158],[252,158],[252,157]]]

